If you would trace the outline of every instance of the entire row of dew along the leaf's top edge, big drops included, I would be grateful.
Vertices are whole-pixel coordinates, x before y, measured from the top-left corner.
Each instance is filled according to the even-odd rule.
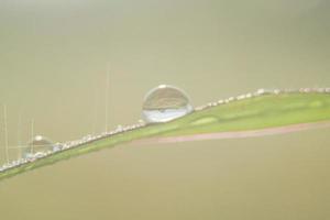
[[[66,143],[54,143],[51,141],[48,138],[43,136],[43,135],[35,135],[32,138],[32,140],[25,145],[25,146],[14,146],[11,148],[20,148],[22,154],[21,158],[15,160],[15,161],[9,161],[9,153],[8,153],[8,143],[6,143],[6,157],[7,157],[7,163],[4,163],[2,166],[0,166],[0,172],[3,172],[9,168],[13,168],[15,166],[34,162],[35,160],[48,156],[51,154],[65,151],[72,147],[77,147],[79,145],[100,140],[103,138],[109,138],[111,135],[121,133],[121,132],[127,132],[131,131],[138,128],[145,127],[151,123],[163,123],[163,122],[168,122],[170,120],[180,118],[183,116],[186,116],[190,112],[204,110],[207,108],[216,107],[218,105],[223,105],[228,103],[234,100],[242,100],[246,98],[252,98],[252,97],[257,97],[257,96],[263,96],[263,95],[279,95],[279,94],[288,94],[288,92],[330,92],[330,88],[304,88],[304,89],[286,89],[286,90],[278,90],[278,89],[273,89],[273,90],[267,90],[267,89],[258,89],[257,91],[253,94],[245,94],[241,95],[238,97],[231,97],[224,100],[219,100],[217,102],[210,102],[208,105],[195,108],[193,107],[190,99],[188,95],[174,86],[169,85],[160,85],[156,88],[150,90],[146,96],[144,97],[144,102],[142,106],[142,119],[139,120],[136,124],[133,125],[128,125],[128,127],[122,127],[118,125],[116,130],[110,131],[110,132],[103,132],[99,135],[86,135],[80,140],[76,141],[69,141]],[[3,109],[4,113],[4,127],[7,127],[7,109],[4,106]],[[32,128],[33,130],[33,128]],[[7,140],[7,128],[4,128],[4,136],[6,141]]]

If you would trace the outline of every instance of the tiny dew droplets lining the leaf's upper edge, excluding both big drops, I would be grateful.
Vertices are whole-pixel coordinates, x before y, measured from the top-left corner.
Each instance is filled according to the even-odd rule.
[[[237,100],[243,100],[243,99],[249,99],[252,97],[260,97],[260,96],[266,96],[266,95],[279,95],[279,94],[309,94],[309,92],[319,92],[319,94],[330,94],[330,88],[301,88],[301,89],[284,89],[284,90],[279,90],[279,89],[258,89],[253,94],[245,94],[245,95],[240,95],[238,97],[230,97],[228,99],[224,100],[219,100],[217,102],[210,102],[207,103],[205,106],[201,107],[197,107],[195,108],[195,111],[200,111],[200,110],[205,110],[211,107],[216,107],[219,105],[224,105],[224,103],[229,103],[232,101],[237,101]],[[0,172],[4,172],[7,169],[26,164],[26,163],[31,163],[34,162],[36,160],[46,157],[48,155],[52,155],[54,153],[57,152],[62,152],[65,150],[69,150],[73,147],[78,147],[80,145],[94,142],[94,141],[98,141],[100,139],[105,139],[105,138],[109,138],[119,133],[124,133],[128,131],[132,131],[142,127],[146,127],[146,124],[144,123],[144,121],[139,120],[139,122],[136,124],[133,125],[127,125],[127,127],[122,127],[122,125],[118,125],[116,130],[110,131],[110,132],[103,132],[99,135],[91,135],[88,134],[86,136],[84,136],[80,140],[75,140],[75,141],[69,141],[69,142],[65,142],[65,143],[56,143],[54,144],[53,151],[47,151],[47,152],[36,152],[35,154],[29,155],[28,157],[23,157],[16,161],[12,161],[10,163],[7,163],[2,166],[0,166]]]

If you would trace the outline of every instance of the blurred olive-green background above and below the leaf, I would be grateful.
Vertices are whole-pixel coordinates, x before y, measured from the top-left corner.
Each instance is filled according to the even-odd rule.
[[[195,106],[329,87],[329,21],[327,0],[2,0],[9,144],[31,119],[55,142],[102,132],[108,63],[109,129],[135,123],[158,84]],[[329,131],[101,151],[0,183],[0,218],[329,219]]]

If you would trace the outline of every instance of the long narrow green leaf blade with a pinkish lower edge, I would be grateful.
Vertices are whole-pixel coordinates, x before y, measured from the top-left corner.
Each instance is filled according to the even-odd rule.
[[[120,132],[7,168],[0,173],[0,180],[132,141],[170,142],[254,136],[329,124],[330,95],[327,92],[280,92],[252,96],[194,111],[167,123],[150,124]]]

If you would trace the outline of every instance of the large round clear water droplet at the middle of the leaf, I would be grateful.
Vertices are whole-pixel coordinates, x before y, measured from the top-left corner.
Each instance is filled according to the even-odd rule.
[[[167,122],[193,111],[188,95],[179,88],[161,85],[148,91],[142,107],[146,123]]]

